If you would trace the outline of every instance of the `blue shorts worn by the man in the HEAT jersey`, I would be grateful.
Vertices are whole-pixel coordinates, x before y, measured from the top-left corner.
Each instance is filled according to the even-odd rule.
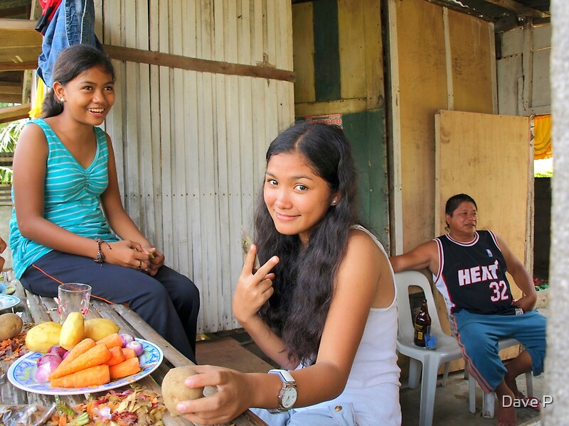
[[[481,315],[467,310],[450,315],[451,327],[467,360],[469,372],[489,393],[504,380],[506,367],[498,350],[501,339],[518,340],[531,356],[534,376],[543,371],[546,357],[546,317],[532,310],[523,315]]]

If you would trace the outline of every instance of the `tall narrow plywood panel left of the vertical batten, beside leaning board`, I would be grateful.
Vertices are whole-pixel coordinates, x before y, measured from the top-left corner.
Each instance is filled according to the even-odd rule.
[[[397,18],[403,251],[432,239],[435,199],[433,116],[447,108],[442,8],[395,1]],[[395,218],[398,220],[398,218]]]

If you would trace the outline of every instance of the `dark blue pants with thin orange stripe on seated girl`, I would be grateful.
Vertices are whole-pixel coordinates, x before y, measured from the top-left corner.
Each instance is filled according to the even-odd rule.
[[[137,269],[92,258],[50,251],[21,276],[26,290],[57,297],[61,283],[85,283],[91,297],[127,305],[184,356],[196,362],[196,327],[200,309],[198,288],[167,266],[151,277]]]

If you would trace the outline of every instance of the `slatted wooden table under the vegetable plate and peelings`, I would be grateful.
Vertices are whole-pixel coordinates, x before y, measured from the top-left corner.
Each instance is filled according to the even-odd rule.
[[[58,321],[59,315],[57,312],[57,303],[51,297],[39,297],[33,293],[27,292],[21,285],[17,285],[16,293],[14,294],[20,298],[20,303],[11,310],[2,310],[0,314],[6,312],[21,312],[23,322],[36,323],[46,322],[46,321]],[[98,300],[91,300],[89,312],[85,316],[86,319],[89,318],[108,318],[114,321],[120,327],[121,333],[130,333],[135,337],[148,340],[158,346],[164,353],[164,361],[162,361],[159,368],[139,380],[137,383],[149,388],[157,393],[161,393],[160,385],[162,383],[162,378],[166,375],[170,368],[178,366],[187,366],[188,364],[193,364],[189,359],[182,355],[174,346],[171,346],[169,342],[166,342],[158,333],[152,329],[147,322],[142,320],[136,312],[130,310],[124,305],[109,305],[105,302],[100,302]],[[13,361],[0,361],[0,366],[3,368],[4,373],[8,371],[8,368]],[[126,389],[128,386],[120,389]],[[213,388],[206,388],[206,395],[215,392]],[[94,393],[92,395],[104,395],[102,393]],[[77,405],[78,403],[84,402],[86,395],[65,395],[60,396],[61,400],[64,400],[70,406]],[[41,395],[38,393],[29,393],[22,391],[16,386],[13,386],[6,376],[2,376],[0,379],[0,400],[3,404],[31,404],[38,403],[39,405],[50,406],[55,397],[53,395]],[[171,417],[166,410],[164,414],[164,425],[174,426],[174,425],[193,425],[192,422],[185,420],[182,417]],[[260,420],[255,414],[249,410],[240,415],[238,418],[233,420],[226,425],[235,426],[266,426],[265,422]],[[225,426],[225,425],[223,425]]]

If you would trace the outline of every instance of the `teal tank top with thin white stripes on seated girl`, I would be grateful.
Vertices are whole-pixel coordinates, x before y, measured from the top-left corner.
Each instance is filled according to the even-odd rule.
[[[100,195],[109,183],[109,151],[105,131],[93,127],[97,138],[97,152],[91,165],[83,168],[46,121],[35,119],[28,122],[30,123],[41,127],[46,134],[49,148],[43,217],[80,236],[118,241],[105,219],[100,202]],[[14,193],[12,197],[14,198]],[[16,209],[13,209],[10,220],[9,244],[16,278],[20,278],[28,266],[52,250],[20,234]]]

